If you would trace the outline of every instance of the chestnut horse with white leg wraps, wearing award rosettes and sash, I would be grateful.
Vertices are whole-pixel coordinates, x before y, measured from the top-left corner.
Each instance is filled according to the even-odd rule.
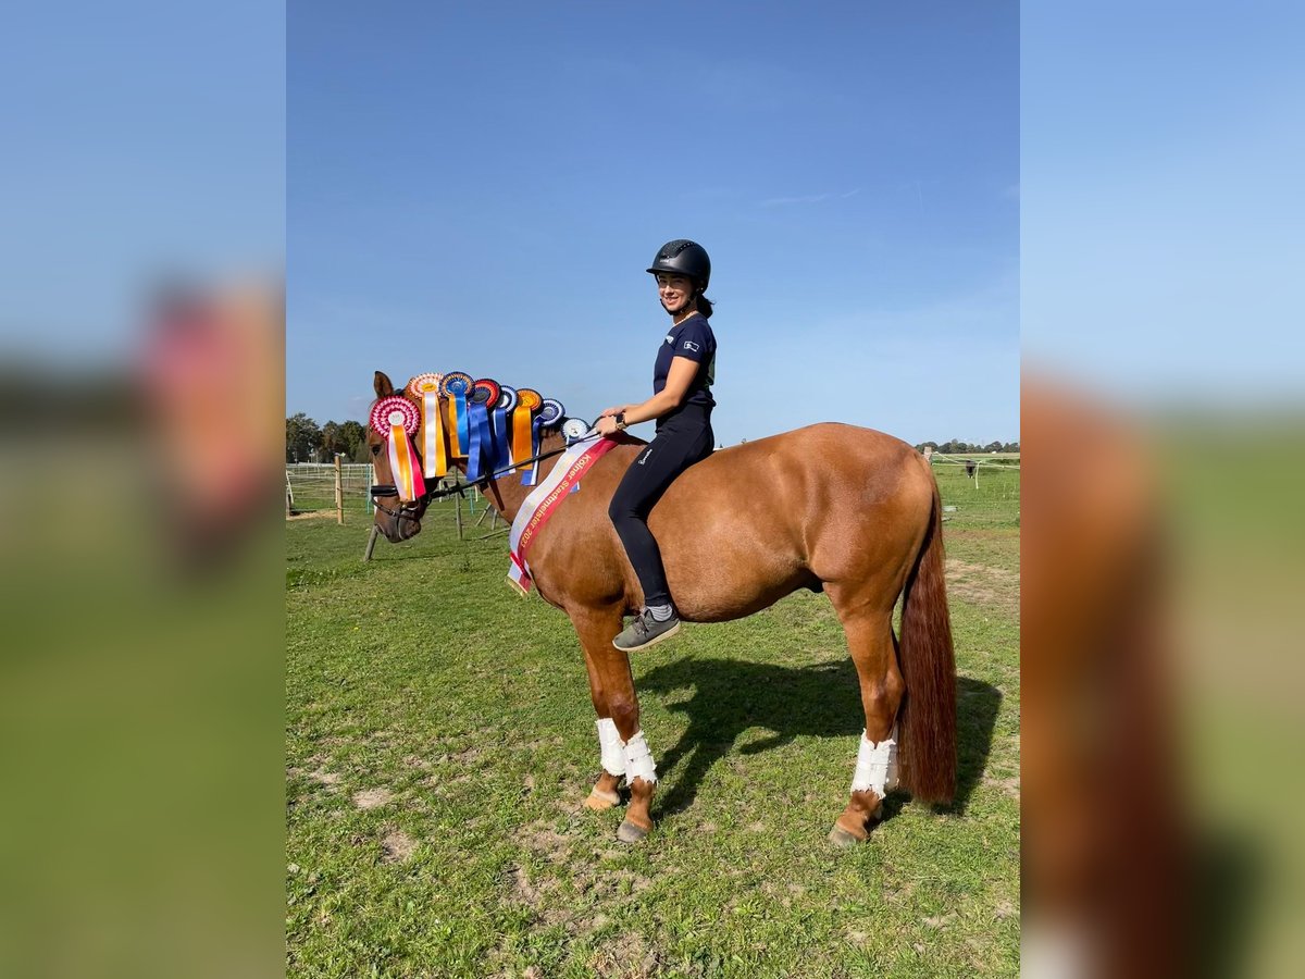
[[[410,397],[380,371],[375,386],[377,398]],[[369,431],[368,440],[378,483],[393,482],[384,436]],[[645,444],[621,441],[585,474],[581,492],[557,508],[527,560],[540,597],[566,612],[585,651],[603,748],[589,808],[620,801],[622,752],[629,758],[630,743],[638,745],[629,764],[642,774],[629,779],[630,800],[617,831],[633,842],[652,828],[656,774],[643,747],[629,657],[612,645],[621,617],[636,614],[643,599],[607,516],[617,483]],[[560,433],[547,435],[542,452],[562,444]],[[542,463],[542,474],[551,463]],[[508,522],[529,492],[515,475],[484,487]],[[389,540],[418,533],[424,500],[402,508],[394,497],[378,503],[376,523]],[[929,463],[910,445],[825,423],[713,453],[679,476],[649,516],[685,621],[740,619],[797,589],[825,591],[834,603],[865,709],[853,791],[830,831],[839,845],[869,835],[895,781],[924,801],[949,801],[955,791],[955,666],[941,509]],[[893,633],[899,597],[900,641]],[[865,773],[876,768],[873,787],[864,787]]]

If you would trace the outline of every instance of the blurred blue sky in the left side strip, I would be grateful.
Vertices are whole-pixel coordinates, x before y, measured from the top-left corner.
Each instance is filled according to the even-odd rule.
[[[284,52],[262,0],[7,7],[0,354],[120,364],[161,277],[279,272]]]

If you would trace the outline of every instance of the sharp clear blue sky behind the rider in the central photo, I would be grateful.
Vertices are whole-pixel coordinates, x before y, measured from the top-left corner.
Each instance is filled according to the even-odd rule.
[[[1018,439],[1018,5],[290,4],[287,411],[651,393],[711,253],[718,439]]]

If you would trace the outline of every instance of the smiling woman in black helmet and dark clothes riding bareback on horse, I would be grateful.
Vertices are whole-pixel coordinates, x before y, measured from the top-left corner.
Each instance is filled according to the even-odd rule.
[[[607,409],[598,420],[600,435],[656,420],[656,436],[625,471],[608,508],[643,587],[643,610],[612,641],[625,653],[647,649],[680,630],[647,516],[671,482],[710,456],[715,445],[711,409],[716,402],[711,384],[716,338],[707,325],[711,300],[703,295],[711,279],[711,260],[702,245],[676,239],[662,247],[649,272],[656,277],[662,308],[671,316],[671,329],[652,368],[652,397]]]

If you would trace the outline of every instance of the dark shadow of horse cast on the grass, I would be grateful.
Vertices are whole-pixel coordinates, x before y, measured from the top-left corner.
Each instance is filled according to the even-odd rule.
[[[765,727],[769,738],[749,741],[739,752],[757,754],[788,744],[795,738],[855,738],[865,726],[856,667],[851,659],[804,667],[767,666],[737,659],[681,659],[659,666],[638,680],[639,692],[673,694],[668,709],[688,718],[677,744],[662,757],[669,791],[659,799],[660,813],[683,812],[697,798],[698,786],[718,761],[735,751],[744,731]],[[957,677],[957,795],[942,812],[964,813],[970,796],[983,778],[992,751],[992,732],[1001,706],[996,687]],[[855,747],[850,747],[847,774],[851,779]],[[681,768],[683,765],[683,768]],[[886,815],[900,809],[890,796]]]

